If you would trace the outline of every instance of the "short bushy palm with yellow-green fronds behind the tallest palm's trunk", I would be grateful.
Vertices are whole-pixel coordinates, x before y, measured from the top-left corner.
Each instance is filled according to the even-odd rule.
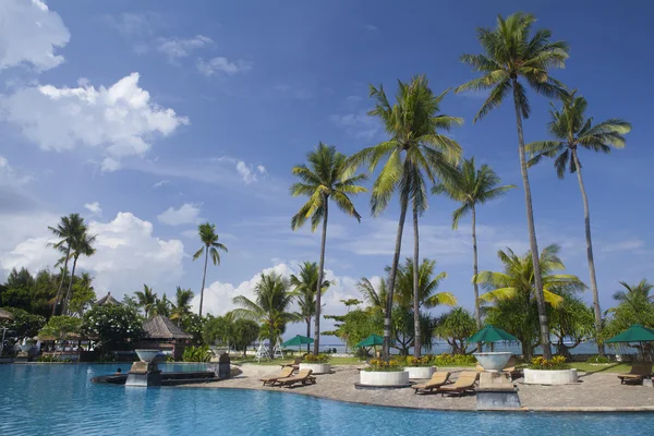
[[[562,293],[585,289],[577,276],[555,274],[566,269],[558,256],[559,251],[558,245],[548,245],[540,256],[543,296],[555,308],[564,301]],[[488,310],[487,320],[516,336],[522,344],[522,353],[529,360],[537,343],[534,343],[534,338],[537,338],[540,327],[537,307],[533,304],[537,294],[533,256],[530,252],[519,256],[511,249],[498,251],[497,256],[504,264],[504,271],[481,271],[473,280],[488,291],[480,300],[494,304]]]

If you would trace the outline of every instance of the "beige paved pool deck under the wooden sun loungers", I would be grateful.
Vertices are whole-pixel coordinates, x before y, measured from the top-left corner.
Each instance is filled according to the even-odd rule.
[[[403,407],[434,410],[475,410],[475,395],[449,397],[438,395],[414,395],[413,389],[355,389],[359,372],[355,366],[334,366],[331,374],[317,375],[315,385],[293,388],[264,387],[259,378],[276,374],[277,366],[241,366],[238,377],[189,387],[239,388],[275,390],[306,395],[337,401],[362,404]],[[470,368],[440,368],[449,371],[450,379],[456,379],[460,371]],[[580,373],[580,383],[565,386],[523,385],[516,380],[522,409],[518,411],[542,412],[654,412],[654,388],[621,385],[616,374]],[[514,410],[513,410],[514,411]]]

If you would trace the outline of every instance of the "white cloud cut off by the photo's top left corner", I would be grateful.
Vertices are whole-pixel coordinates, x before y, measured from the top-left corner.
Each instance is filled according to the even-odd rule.
[[[0,1],[0,71],[31,64],[38,71],[63,62],[56,55],[71,38],[56,12],[40,0]]]

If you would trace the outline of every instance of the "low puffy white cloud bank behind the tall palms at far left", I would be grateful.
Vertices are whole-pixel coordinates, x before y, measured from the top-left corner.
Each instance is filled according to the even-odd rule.
[[[0,228],[12,226],[12,231],[20,233],[20,242],[16,243],[12,235],[12,246],[8,249],[5,241],[0,245],[0,267],[5,272],[13,267],[24,266],[34,271],[55,264],[59,255],[55,250],[46,249],[51,240],[47,226],[55,225],[59,217],[45,213],[9,220],[4,218],[0,220]],[[97,251],[90,257],[80,258],[78,268],[95,277],[98,294],[110,290],[120,298],[141,289],[143,283],[153,286],[155,290],[179,284],[184,245],[180,240],[154,237],[150,222],[130,213],[119,213],[109,222],[92,220],[88,231],[97,235]]]

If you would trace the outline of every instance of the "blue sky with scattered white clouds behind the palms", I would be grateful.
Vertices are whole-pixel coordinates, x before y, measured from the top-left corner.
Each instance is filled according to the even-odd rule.
[[[291,168],[318,142],[343,154],[385,140],[367,116],[368,84],[395,94],[397,80],[426,74],[434,92],[475,77],[459,62],[480,52],[479,26],[523,2],[4,0],[0,2],[0,276],[11,268],[52,268],[47,226],[80,213],[97,234],[97,253],[80,261],[99,296],[122,298],[177,286],[198,294],[199,222],[216,225],[229,249],[209,266],[205,307],[234,308],[262,272],[298,271],[317,261],[319,234],[293,232],[303,198],[289,195]],[[589,100],[594,120],[633,124],[627,147],[581,153],[591,204],[603,308],[619,281],[651,277],[654,193],[646,125],[654,92],[649,19],[635,1],[533,1],[535,27],[570,44],[553,75]],[[565,13],[561,13],[565,11]],[[547,140],[549,101],[529,95],[528,142]],[[484,94],[451,92],[444,113],[465,122],[451,132],[464,157],[491,165],[520,187],[477,211],[480,268],[498,270],[497,251],[528,247],[513,109],[504,104],[472,123]],[[530,170],[538,244],[561,245],[569,274],[588,283],[583,208],[574,174],[558,180],[550,161]],[[399,207],[363,219],[332,213],[327,237],[325,313],[360,298],[361,277],[391,262]],[[431,197],[421,218],[421,256],[435,258],[452,292],[472,308],[470,220],[450,228],[457,207]],[[407,227],[402,254],[412,252]],[[590,291],[583,294],[592,301]],[[198,298],[194,300],[197,307]],[[437,308],[434,314],[441,310]],[[325,323],[323,329],[329,328]],[[289,334],[302,332],[301,325]]]

